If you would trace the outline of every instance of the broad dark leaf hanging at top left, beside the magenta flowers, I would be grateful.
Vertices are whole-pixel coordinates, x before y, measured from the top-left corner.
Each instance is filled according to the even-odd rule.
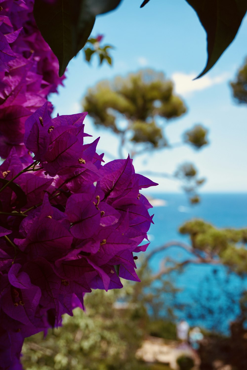
[[[98,14],[115,9],[121,0],[35,0],[34,17],[44,40],[59,60],[59,76],[84,47]]]

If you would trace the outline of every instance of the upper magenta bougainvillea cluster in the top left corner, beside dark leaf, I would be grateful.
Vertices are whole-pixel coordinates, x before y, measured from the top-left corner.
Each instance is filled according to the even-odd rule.
[[[0,0],[0,156],[22,156],[24,123],[64,77],[33,17],[34,0]],[[49,106],[50,112],[52,106]]]

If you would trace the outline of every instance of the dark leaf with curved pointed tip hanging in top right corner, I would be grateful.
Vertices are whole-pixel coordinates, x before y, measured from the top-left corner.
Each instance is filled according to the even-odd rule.
[[[247,10],[247,0],[186,0],[207,33],[207,73],[234,40]],[[198,78],[197,77],[197,78]]]

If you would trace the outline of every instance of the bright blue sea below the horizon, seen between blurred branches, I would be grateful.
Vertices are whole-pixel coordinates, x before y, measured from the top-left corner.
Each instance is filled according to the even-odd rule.
[[[154,213],[154,225],[148,232],[149,252],[170,240],[189,243],[178,228],[191,218],[203,219],[217,228],[247,228],[247,194],[201,194],[200,204],[193,206],[185,194],[152,196],[164,204],[150,209],[150,214]],[[151,259],[153,272],[159,270],[166,257],[182,261],[191,256],[181,248],[171,247]],[[247,289],[246,278],[229,273],[223,266],[190,264],[168,279],[181,289],[176,297],[176,307],[180,309],[174,308],[177,318],[186,318],[191,325],[229,333],[229,323],[239,314],[238,299]]]

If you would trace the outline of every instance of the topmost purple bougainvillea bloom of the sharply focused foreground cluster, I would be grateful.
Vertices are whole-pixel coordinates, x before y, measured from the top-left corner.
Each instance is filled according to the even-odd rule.
[[[84,133],[85,116],[84,112],[51,120],[45,103],[26,121],[24,143],[50,176],[93,160],[99,139],[83,145],[83,138],[89,136]]]

